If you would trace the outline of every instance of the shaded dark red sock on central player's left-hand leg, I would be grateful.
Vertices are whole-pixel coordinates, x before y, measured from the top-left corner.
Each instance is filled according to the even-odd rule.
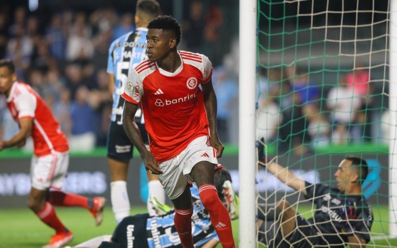
[[[192,215],[193,206],[188,210],[175,209],[175,228],[184,248],[193,248]]]

